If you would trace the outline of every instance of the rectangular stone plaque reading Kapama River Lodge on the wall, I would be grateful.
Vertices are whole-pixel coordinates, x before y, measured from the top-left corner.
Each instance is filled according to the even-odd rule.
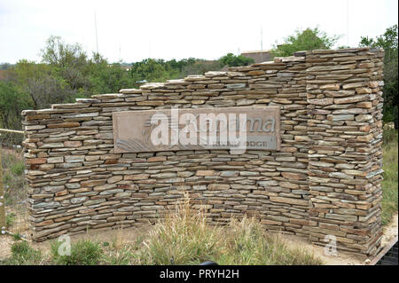
[[[243,145],[246,149],[279,150],[280,144],[278,106],[113,113],[114,153],[232,149]]]

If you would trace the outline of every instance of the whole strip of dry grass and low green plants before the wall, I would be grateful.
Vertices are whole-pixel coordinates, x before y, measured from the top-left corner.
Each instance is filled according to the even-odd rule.
[[[73,241],[71,256],[58,255],[59,242],[54,241],[51,255],[35,258],[35,263],[186,265],[211,260],[240,265],[322,264],[309,251],[291,244],[278,234],[265,232],[254,217],[232,219],[227,226],[210,225],[204,211],[193,209],[186,197],[134,241],[127,241],[121,231],[110,242]],[[9,263],[24,264],[24,259],[14,256]]]

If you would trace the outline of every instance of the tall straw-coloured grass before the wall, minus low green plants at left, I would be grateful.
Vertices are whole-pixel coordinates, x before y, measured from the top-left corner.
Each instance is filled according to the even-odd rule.
[[[309,251],[290,248],[278,234],[265,232],[255,218],[232,219],[227,227],[207,223],[187,198],[155,224],[133,252],[139,264],[321,264]]]

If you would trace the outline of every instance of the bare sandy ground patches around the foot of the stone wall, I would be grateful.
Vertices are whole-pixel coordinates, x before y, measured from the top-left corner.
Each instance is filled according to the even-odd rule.
[[[124,243],[135,242],[138,237],[145,236],[145,233],[151,228],[150,225],[139,228],[126,228],[118,230],[104,230],[91,231],[77,234],[71,237],[71,240],[98,240],[101,242],[113,243],[115,247]],[[382,238],[382,246],[385,247],[387,243],[394,239],[398,234],[398,215],[393,216],[390,224],[384,227],[384,235]],[[286,240],[290,245],[295,245],[298,248],[307,249],[314,255],[319,257],[326,265],[365,265],[368,263],[366,257],[357,256],[346,252],[337,251],[337,255],[325,255],[325,248],[309,243],[306,239],[301,239],[294,236],[281,235],[282,239]],[[11,255],[11,245],[14,242],[12,236],[5,235],[0,237],[0,259],[4,259]],[[44,253],[48,253],[51,247],[51,241],[42,243],[32,243],[34,248],[40,248]],[[370,258],[372,259],[372,258]]]

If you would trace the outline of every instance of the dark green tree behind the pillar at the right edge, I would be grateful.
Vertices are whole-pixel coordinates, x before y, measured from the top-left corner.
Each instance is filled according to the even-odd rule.
[[[383,35],[376,38],[362,36],[359,43],[360,46],[370,46],[372,48],[383,48],[384,56],[384,122],[394,122],[395,129],[398,129],[398,27],[394,25],[387,28]]]

